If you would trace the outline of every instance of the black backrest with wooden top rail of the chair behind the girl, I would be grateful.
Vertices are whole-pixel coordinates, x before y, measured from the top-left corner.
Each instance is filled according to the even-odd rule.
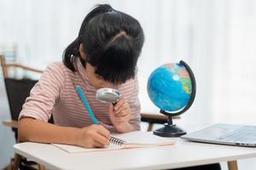
[[[9,77],[9,68],[22,69],[25,71],[32,71],[37,73],[42,73],[43,71],[27,67],[25,65],[20,65],[17,63],[6,63],[3,55],[0,55],[0,61],[3,71],[3,80],[6,88],[7,97],[9,100],[9,109],[11,118],[14,121],[18,121],[20,111],[22,110],[22,105],[25,103],[26,98],[29,96],[32,87],[38,82],[38,80],[32,80],[29,78],[17,79],[14,77]],[[53,123],[53,117],[50,118],[49,122]],[[13,128],[15,132],[15,137],[17,138],[17,129]]]

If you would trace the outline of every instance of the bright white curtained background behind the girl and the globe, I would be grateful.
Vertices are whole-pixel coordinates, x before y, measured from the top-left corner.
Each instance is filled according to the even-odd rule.
[[[0,0],[0,54],[38,69],[60,61],[97,3],[109,3],[143,26],[146,39],[138,61],[143,111],[159,112],[148,99],[150,73],[183,59],[194,71],[197,94],[179,126],[191,130],[214,122],[256,124],[253,0]],[[9,119],[9,105],[0,73],[0,121],[4,119]],[[0,168],[13,156],[13,144],[14,134],[0,123]],[[256,169],[253,159],[238,163],[241,169]]]

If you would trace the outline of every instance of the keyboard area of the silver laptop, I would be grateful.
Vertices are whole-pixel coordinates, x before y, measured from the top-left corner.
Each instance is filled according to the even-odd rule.
[[[256,144],[256,127],[244,126],[231,133],[224,134],[218,140],[241,144]]]

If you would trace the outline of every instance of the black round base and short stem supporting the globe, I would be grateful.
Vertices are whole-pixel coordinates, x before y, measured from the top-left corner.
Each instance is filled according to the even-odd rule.
[[[160,113],[165,114],[166,111],[160,110]],[[182,128],[172,124],[172,116],[170,115],[168,115],[167,123],[165,123],[164,125],[165,127],[154,130],[153,133],[161,137],[179,137],[186,134],[186,132]]]

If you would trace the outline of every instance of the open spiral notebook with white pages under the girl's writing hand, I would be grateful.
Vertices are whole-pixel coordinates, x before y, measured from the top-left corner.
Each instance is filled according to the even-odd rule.
[[[155,147],[163,145],[175,144],[171,138],[163,138],[155,136],[152,132],[131,132],[121,134],[111,134],[110,145],[107,148],[92,148],[87,149],[74,145],[67,144],[53,144],[61,150],[68,153],[90,152],[90,151],[103,151],[103,150],[120,150],[132,148]]]

